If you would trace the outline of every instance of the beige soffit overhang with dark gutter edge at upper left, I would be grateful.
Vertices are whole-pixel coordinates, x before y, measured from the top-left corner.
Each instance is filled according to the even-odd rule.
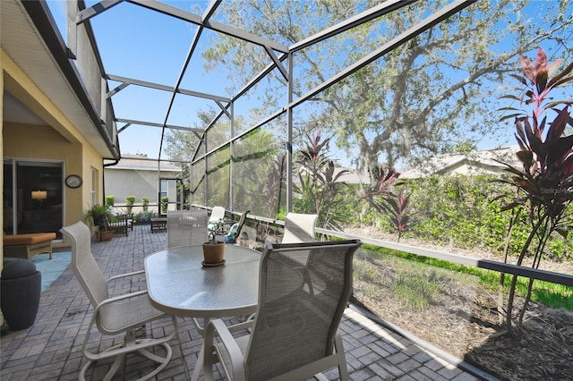
[[[18,0],[0,4],[4,52],[102,157],[118,158],[119,148],[101,125],[46,5]],[[18,117],[4,107],[5,121],[18,123]]]

